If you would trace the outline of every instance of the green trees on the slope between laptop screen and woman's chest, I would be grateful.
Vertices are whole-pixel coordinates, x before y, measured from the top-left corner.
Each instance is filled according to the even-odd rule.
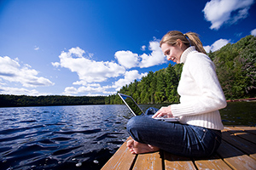
[[[140,82],[135,80],[119,90],[131,95],[139,104],[177,103],[177,84],[183,65],[171,65],[160,71],[149,71]],[[122,104],[117,94],[108,96],[106,104]]]

